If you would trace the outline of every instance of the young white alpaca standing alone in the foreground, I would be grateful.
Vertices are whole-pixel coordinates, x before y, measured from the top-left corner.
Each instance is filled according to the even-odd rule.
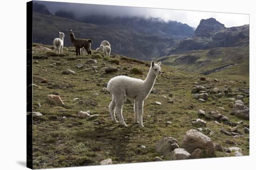
[[[151,62],[151,67],[144,81],[128,76],[116,76],[108,82],[107,88],[112,94],[112,101],[108,107],[114,122],[117,122],[115,119],[116,113],[120,123],[127,126],[123,120],[122,107],[126,98],[129,98],[134,100],[135,123],[139,123],[143,127],[142,114],[144,100],[147,99],[148,94],[151,92],[156,77],[162,74],[160,64],[161,62],[157,64],[154,61]]]

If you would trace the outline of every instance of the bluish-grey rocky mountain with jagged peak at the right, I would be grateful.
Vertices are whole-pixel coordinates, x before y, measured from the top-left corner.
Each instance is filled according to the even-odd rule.
[[[216,47],[242,47],[248,44],[249,25],[226,28],[216,19],[202,19],[193,37],[185,38],[166,51],[165,55]]]

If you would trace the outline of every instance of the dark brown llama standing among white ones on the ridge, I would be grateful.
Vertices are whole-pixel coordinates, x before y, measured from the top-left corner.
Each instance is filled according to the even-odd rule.
[[[71,40],[72,44],[74,44],[75,52],[76,52],[77,56],[78,56],[78,54],[79,54],[79,56],[81,56],[80,49],[83,47],[85,48],[85,50],[88,54],[92,55],[92,51],[91,51],[91,44],[93,43],[92,40],[74,38],[74,30],[71,30],[70,28],[69,28],[69,35],[70,35],[70,40]]]

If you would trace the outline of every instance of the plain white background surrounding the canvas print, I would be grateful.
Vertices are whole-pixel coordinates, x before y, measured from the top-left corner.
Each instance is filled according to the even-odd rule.
[[[84,166],[68,170],[133,170],[133,169],[254,169],[255,137],[255,20],[253,0],[54,0],[104,5],[141,6],[250,14],[250,156],[207,158],[184,161]],[[26,168],[26,2],[1,2],[0,26],[0,169]],[[191,16],[193,17],[193,16]],[[15,43],[13,43],[15,42]],[[252,145],[253,144],[253,145]],[[61,168],[62,169],[62,168]],[[58,169],[58,170],[61,170]]]

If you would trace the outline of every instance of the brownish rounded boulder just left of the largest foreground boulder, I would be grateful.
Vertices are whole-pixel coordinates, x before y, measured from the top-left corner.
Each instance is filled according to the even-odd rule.
[[[156,145],[156,151],[163,156],[168,156],[176,148],[179,148],[179,143],[177,139],[168,137],[159,141]]]

